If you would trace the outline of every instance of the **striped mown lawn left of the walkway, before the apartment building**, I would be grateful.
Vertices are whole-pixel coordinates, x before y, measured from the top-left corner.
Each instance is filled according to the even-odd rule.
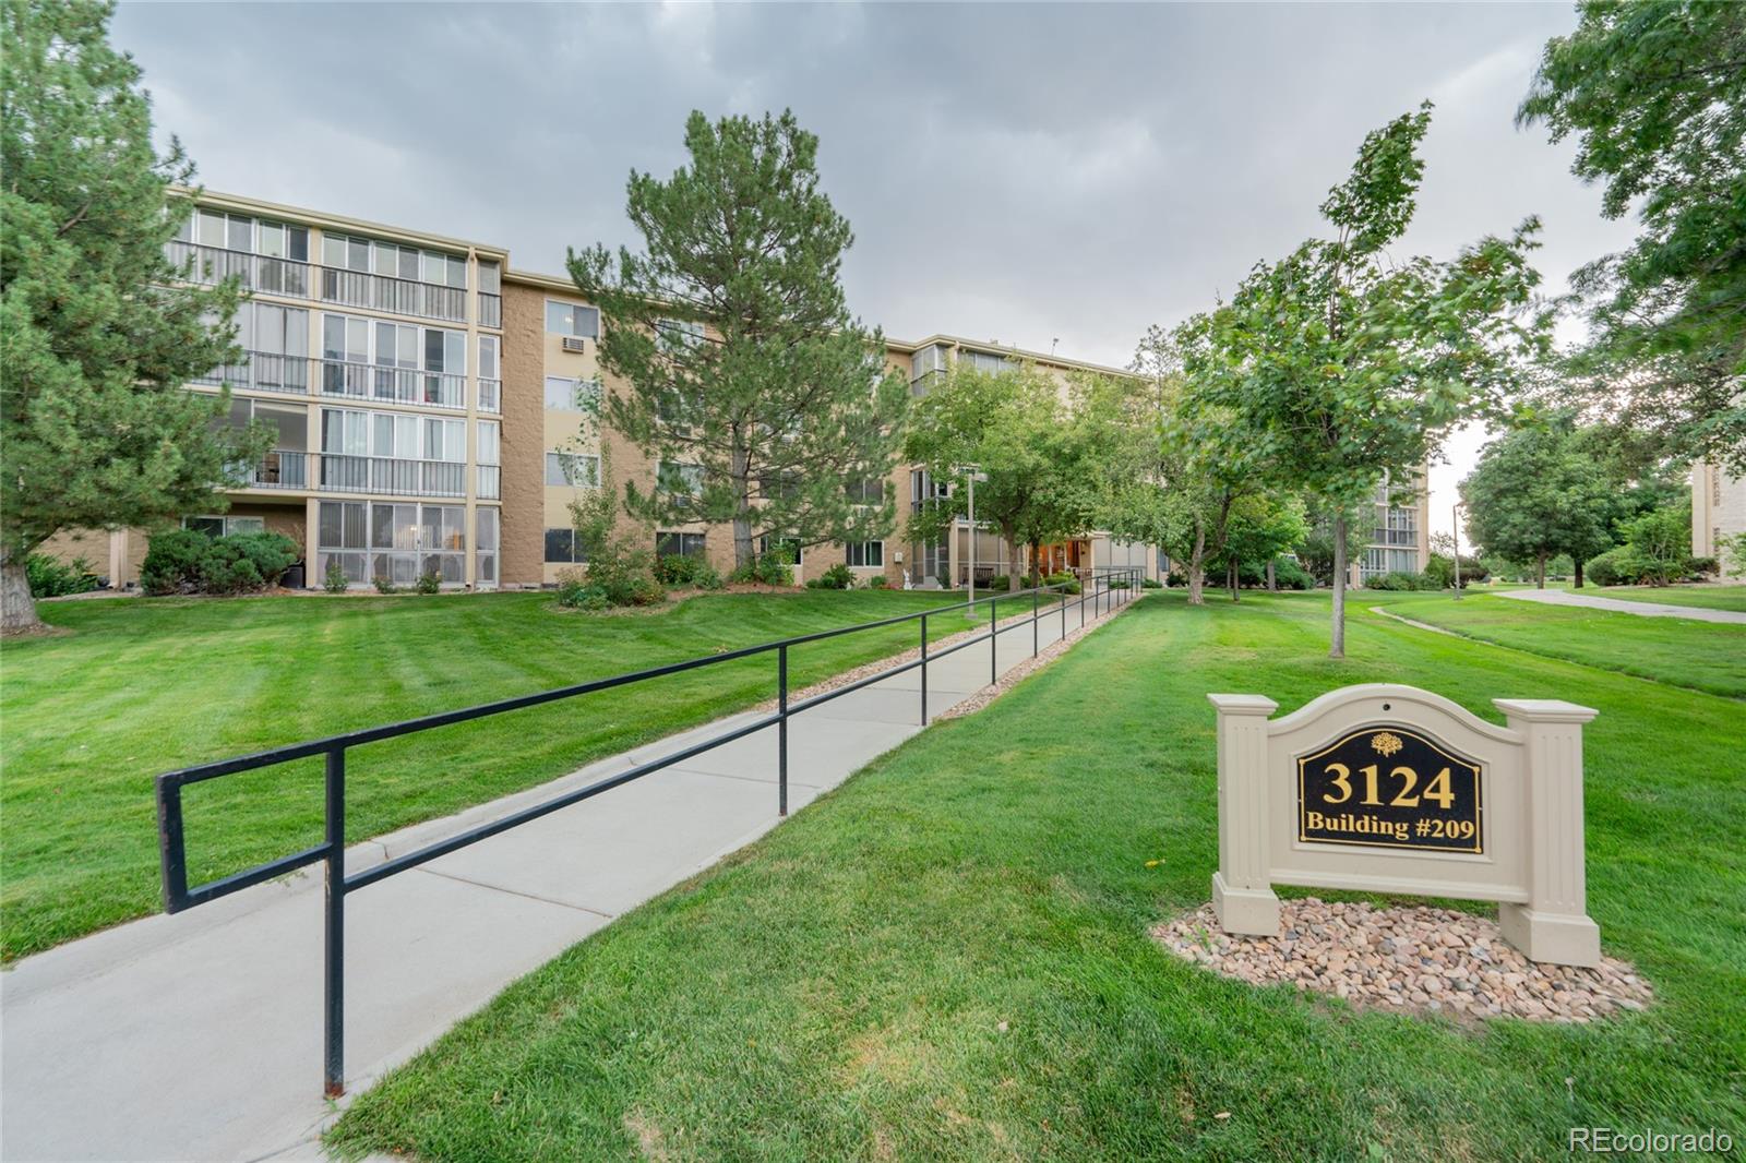
[[[72,636],[0,660],[5,959],[159,908],[152,777],[176,767],[533,693],[957,601],[831,592],[697,597],[590,616],[550,594],[47,602]],[[962,630],[941,618],[934,634]],[[899,625],[796,646],[791,685],[910,646]],[[351,840],[562,775],[775,693],[775,657],[347,753]],[[199,884],[321,838],[320,760],[185,793]]]

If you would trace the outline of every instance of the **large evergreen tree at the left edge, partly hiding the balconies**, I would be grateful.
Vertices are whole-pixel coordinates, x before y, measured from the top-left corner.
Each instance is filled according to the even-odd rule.
[[[194,168],[152,147],[110,3],[5,0],[0,28],[0,629],[40,627],[24,561],[63,529],[222,505],[264,440],[183,384],[241,356],[234,285],[176,286]],[[213,320],[218,320],[215,323]]]

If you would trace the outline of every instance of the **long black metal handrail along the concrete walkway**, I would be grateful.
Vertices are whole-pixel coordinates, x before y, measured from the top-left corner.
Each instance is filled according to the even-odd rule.
[[[966,602],[953,602],[950,606],[934,606],[931,609],[922,609],[910,615],[896,615],[890,618],[880,618],[876,622],[861,622],[856,625],[835,627],[829,630],[814,630],[810,634],[796,634],[793,637],[777,639],[772,643],[760,643],[756,646],[740,646],[739,650],[728,650],[719,655],[707,655],[702,658],[686,658],[683,662],[669,662],[658,667],[648,667],[644,671],[630,671],[625,674],[615,674],[602,679],[592,679],[588,683],[576,683],[573,686],[559,686],[555,690],[543,690],[533,695],[517,695],[515,698],[499,698],[498,702],[485,702],[475,707],[461,707],[459,711],[442,711],[438,714],[426,714],[416,719],[405,719],[402,723],[388,723],[382,726],[368,726],[356,732],[347,732],[344,735],[328,735],[325,739],[311,739],[299,744],[286,744],[283,747],[271,747],[267,751],[255,751],[251,754],[232,756],[229,760],[215,760],[211,763],[197,763],[194,767],[185,767],[175,772],[164,772],[157,777],[155,796],[157,796],[157,847],[159,847],[159,864],[162,871],[164,884],[164,912],[180,913],[183,910],[194,908],[197,905],[208,905],[220,898],[230,896],[232,892],[241,892],[243,889],[264,884],[276,877],[297,871],[314,863],[327,864],[327,906],[325,906],[325,953],[323,953],[323,1088],[328,1097],[337,1097],[344,1093],[344,966],[346,966],[346,896],[356,889],[368,887],[377,880],[386,880],[396,873],[407,871],[409,868],[417,868],[428,861],[440,856],[447,856],[459,849],[464,849],[480,840],[487,840],[520,824],[536,821],[543,815],[550,815],[559,809],[571,807],[573,803],[581,803],[613,788],[622,788],[632,781],[651,775],[658,770],[672,767],[674,763],[683,763],[684,760],[704,754],[716,747],[735,742],[737,739],[746,739],[756,732],[768,726],[777,728],[777,814],[787,815],[787,721],[789,718],[800,714],[801,711],[810,711],[812,707],[831,702],[833,698],[842,698],[843,695],[854,693],[873,683],[889,679],[897,674],[906,674],[910,671],[922,671],[922,726],[927,726],[927,664],[939,662],[941,658],[953,655],[960,650],[967,650],[980,643],[988,643],[988,681],[990,685],[999,681],[999,636],[1030,623],[1030,653],[1035,657],[1039,653],[1039,623],[1044,615],[1042,599],[1048,595],[1051,601],[1058,601],[1062,616],[1062,639],[1067,637],[1067,611],[1072,606],[1079,608],[1079,625],[1086,625],[1086,606],[1091,606],[1093,620],[1107,611],[1112,611],[1119,604],[1133,601],[1140,594],[1140,576],[1138,568],[1117,569],[1109,575],[1100,576],[1095,588],[1088,588],[1074,595],[1070,587],[1077,583],[1060,582],[1055,585],[1039,585],[1027,590],[1009,590],[1006,594],[992,594],[988,597],[978,597]],[[1112,582],[1121,582],[1121,585],[1112,585]],[[1056,594],[1060,590],[1060,594]],[[1013,599],[1030,599],[1030,616],[1020,615],[1009,625],[1000,625],[1000,602],[1007,602],[1011,608]],[[1072,599],[1072,601],[1069,601]],[[927,648],[927,620],[938,618],[939,615],[953,611],[974,611],[978,606],[988,608],[988,632],[974,637],[967,637],[962,643],[953,643],[943,650],[929,653]],[[787,690],[787,651],[793,646],[803,646],[807,643],[821,643],[831,637],[842,637],[845,634],[857,634],[861,630],[875,630],[890,625],[901,625],[904,622],[920,622],[922,648],[920,657],[910,662],[887,667],[875,674],[854,679],[843,686],[821,692],[810,698],[791,704]],[[754,655],[775,653],[777,657],[777,709],[770,714],[758,716],[751,723],[742,723],[732,730],[712,735],[702,742],[690,744],[672,754],[663,754],[658,760],[650,760],[648,763],[639,763],[625,772],[611,775],[608,779],[592,782],[585,788],[576,788],[560,796],[536,803],[533,807],[512,812],[510,815],[491,821],[489,824],[480,824],[466,831],[456,833],[443,840],[436,840],[412,852],[405,852],[393,859],[386,859],[381,864],[374,864],[358,873],[346,875],[346,751],[351,747],[360,747],[363,744],[381,742],[384,739],[398,739],[402,735],[414,735],[417,732],[435,730],[438,726],[452,726],[456,723],[468,723],[471,719],[482,719],[492,714],[505,714],[508,711],[520,711],[524,707],[538,707],[548,702],[559,702],[562,698],[576,698],[580,695],[592,695],[602,690],[613,690],[616,686],[630,686],[634,683],[646,683],[650,679],[665,678],[669,674],[683,674],[686,671],[698,671],[702,667],[718,665],[723,662],[733,662],[737,658],[751,658]],[[325,758],[323,788],[325,788],[325,807],[323,807],[323,840],[318,845],[292,852],[290,856],[281,856],[278,859],[255,864],[253,868],[244,868],[243,871],[232,873],[229,877],[220,877],[218,880],[208,880],[206,884],[189,887],[189,863],[187,863],[187,843],[183,838],[182,824],[182,789],[190,784],[199,784],[208,779],[220,779],[223,775],[236,775],[237,772],[251,772],[264,767],[276,767],[279,763],[290,763],[293,760],[306,760],[311,756]]]

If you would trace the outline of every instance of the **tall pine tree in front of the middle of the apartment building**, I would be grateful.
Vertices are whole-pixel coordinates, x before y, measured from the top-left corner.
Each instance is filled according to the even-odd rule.
[[[761,536],[885,536],[908,389],[843,302],[854,236],[819,190],[817,138],[789,112],[693,112],[684,143],[691,164],[667,182],[630,175],[644,253],[569,257],[601,307],[601,365],[630,386],[606,419],[663,465],[653,489],[625,485],[627,508],[732,524],[740,568]]]

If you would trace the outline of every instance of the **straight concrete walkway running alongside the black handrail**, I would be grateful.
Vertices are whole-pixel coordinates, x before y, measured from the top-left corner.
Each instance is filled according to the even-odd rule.
[[[1060,625],[1058,613],[1042,618],[1042,646],[1060,637]],[[1077,629],[1070,611],[1069,636]],[[1028,622],[1002,630],[1002,672],[1030,657]],[[986,643],[929,664],[929,712],[981,690],[988,665]],[[730,716],[354,845],[347,868],[754,718]],[[789,810],[920,730],[915,671],[793,718]],[[354,779],[368,779],[368,767]],[[777,824],[775,781],[772,726],[347,894],[347,1093],[515,978],[768,831]],[[98,932],[0,974],[0,1158],[320,1158],[316,1137],[337,1112],[321,1098],[321,873],[306,870],[176,917]]]

